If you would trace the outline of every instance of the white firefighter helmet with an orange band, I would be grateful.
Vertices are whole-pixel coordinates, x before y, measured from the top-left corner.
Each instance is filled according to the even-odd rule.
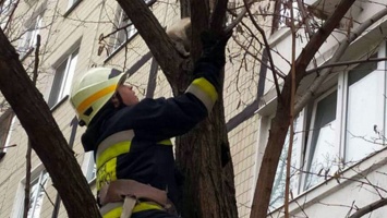
[[[88,125],[94,116],[114,95],[117,86],[125,80],[126,74],[117,69],[95,68],[74,84],[70,101],[77,113],[81,126]]]

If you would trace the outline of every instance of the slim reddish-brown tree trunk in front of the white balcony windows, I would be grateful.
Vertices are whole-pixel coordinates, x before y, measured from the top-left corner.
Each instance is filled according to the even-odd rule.
[[[342,0],[340,4],[338,4],[334,14],[324,23],[318,32],[312,36],[309,44],[293,63],[295,64],[294,68],[297,72],[294,87],[299,86],[301,80],[305,76],[307,64],[353,3],[354,0]],[[276,116],[271,123],[269,138],[256,183],[252,211],[250,215],[251,218],[263,218],[267,215],[279,157],[290,124],[290,107],[293,107],[290,104],[290,95],[291,74],[289,73],[285,78],[283,89],[281,90],[280,96],[278,96]]]

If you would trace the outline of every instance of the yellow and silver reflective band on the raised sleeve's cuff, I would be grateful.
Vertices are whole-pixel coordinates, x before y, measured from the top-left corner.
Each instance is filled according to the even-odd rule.
[[[204,77],[194,80],[186,93],[196,96],[206,106],[208,112],[211,111],[215,101],[218,99],[218,93],[214,85]]]

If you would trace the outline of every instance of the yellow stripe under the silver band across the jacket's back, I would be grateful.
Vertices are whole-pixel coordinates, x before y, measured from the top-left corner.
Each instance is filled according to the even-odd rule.
[[[106,148],[101,154],[99,154],[99,156],[97,156],[97,169],[99,169],[106,161],[119,155],[129,153],[131,144],[131,141],[124,141]]]

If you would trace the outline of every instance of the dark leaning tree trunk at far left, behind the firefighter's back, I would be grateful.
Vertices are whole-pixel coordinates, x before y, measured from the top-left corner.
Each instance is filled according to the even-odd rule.
[[[93,193],[43,95],[0,31],[0,89],[26,131],[32,147],[62,196],[70,218],[100,217]]]

